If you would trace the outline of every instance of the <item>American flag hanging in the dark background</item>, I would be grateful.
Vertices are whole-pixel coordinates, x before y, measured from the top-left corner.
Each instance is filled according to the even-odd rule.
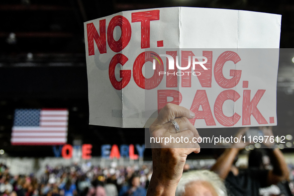
[[[67,143],[67,109],[15,109],[11,145]]]

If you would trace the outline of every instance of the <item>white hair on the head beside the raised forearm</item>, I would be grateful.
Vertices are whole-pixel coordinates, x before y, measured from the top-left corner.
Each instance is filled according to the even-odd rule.
[[[208,182],[214,188],[217,196],[227,196],[227,191],[222,179],[214,172],[208,170],[196,170],[183,173],[177,186],[176,196],[182,196],[185,193],[186,185],[197,181]]]

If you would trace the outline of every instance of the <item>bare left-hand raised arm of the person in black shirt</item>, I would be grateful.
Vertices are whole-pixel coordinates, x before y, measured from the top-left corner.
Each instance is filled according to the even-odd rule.
[[[226,179],[235,157],[238,155],[238,148],[228,148],[216,160],[216,163],[211,167],[211,171],[215,172],[221,179]]]

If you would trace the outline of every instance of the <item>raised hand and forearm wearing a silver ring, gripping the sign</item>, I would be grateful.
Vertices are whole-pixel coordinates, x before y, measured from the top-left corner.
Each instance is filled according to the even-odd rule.
[[[199,138],[196,128],[189,121],[193,117],[195,114],[189,109],[168,103],[150,126],[150,137],[188,137],[189,141],[152,144],[153,175],[147,196],[174,195],[187,156],[192,152],[200,152],[199,145],[193,142],[193,137]],[[175,125],[170,122],[173,119],[180,126],[179,133],[176,133]]]

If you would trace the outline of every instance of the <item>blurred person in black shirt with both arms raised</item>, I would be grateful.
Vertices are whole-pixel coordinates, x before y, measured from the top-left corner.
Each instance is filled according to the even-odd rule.
[[[241,128],[236,137],[243,137],[248,129],[249,127]],[[264,136],[273,136],[271,127],[261,127],[261,130]],[[233,143],[231,148],[225,149],[212,166],[211,171],[225,180],[227,190],[231,196],[260,196],[259,191],[262,188],[289,180],[289,170],[283,153],[279,148],[276,148],[274,142],[270,142],[270,139],[263,141],[263,145],[269,150],[272,168],[266,167],[269,162],[263,163],[262,159],[266,160],[263,155],[258,155],[257,157],[256,155],[251,155],[249,157],[249,167],[246,169],[236,167],[235,164],[240,150],[249,144],[244,141]]]

